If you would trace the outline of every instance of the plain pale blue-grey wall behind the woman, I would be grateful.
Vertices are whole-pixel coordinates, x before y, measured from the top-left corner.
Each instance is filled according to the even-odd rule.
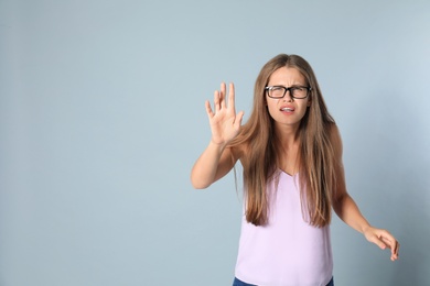
[[[189,180],[204,100],[234,81],[249,114],[279,53],[313,66],[348,190],[401,243],[391,263],[334,219],[336,285],[430,285],[429,31],[424,0],[0,0],[0,285],[230,285],[240,186]]]

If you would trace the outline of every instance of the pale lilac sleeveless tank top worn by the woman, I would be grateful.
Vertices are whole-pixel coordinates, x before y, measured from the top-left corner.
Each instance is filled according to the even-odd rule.
[[[315,228],[303,219],[299,176],[279,174],[268,184],[269,222],[241,222],[235,275],[260,286],[325,286],[333,275],[330,227]],[[307,211],[304,211],[307,213]]]

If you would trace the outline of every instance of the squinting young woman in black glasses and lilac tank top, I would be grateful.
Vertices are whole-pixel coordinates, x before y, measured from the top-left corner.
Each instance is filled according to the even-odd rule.
[[[211,186],[237,161],[244,169],[234,285],[333,285],[332,208],[398,258],[397,240],[372,227],[346,191],[341,136],[307,61],[281,54],[262,67],[244,125],[233,84],[228,98],[221,85],[206,111],[212,140],[192,169],[193,186]]]

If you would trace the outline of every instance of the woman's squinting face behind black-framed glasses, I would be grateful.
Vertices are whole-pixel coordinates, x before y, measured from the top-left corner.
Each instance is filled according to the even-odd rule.
[[[267,86],[308,87],[304,76],[295,68],[281,67],[271,74]],[[308,91],[310,94],[310,91]],[[294,91],[294,96],[297,96]],[[266,92],[267,108],[271,118],[278,127],[298,128],[300,121],[307,113],[311,105],[310,97],[297,99],[291,97],[291,90],[288,90],[283,98],[275,99]]]

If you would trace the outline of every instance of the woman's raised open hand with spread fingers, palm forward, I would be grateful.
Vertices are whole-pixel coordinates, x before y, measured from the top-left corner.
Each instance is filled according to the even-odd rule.
[[[243,111],[236,114],[235,86],[233,82],[228,87],[228,103],[226,85],[222,82],[221,90],[214,92],[214,111],[208,100],[205,105],[211,123],[212,142],[218,145],[227,145],[239,133],[241,119],[244,118]]]

